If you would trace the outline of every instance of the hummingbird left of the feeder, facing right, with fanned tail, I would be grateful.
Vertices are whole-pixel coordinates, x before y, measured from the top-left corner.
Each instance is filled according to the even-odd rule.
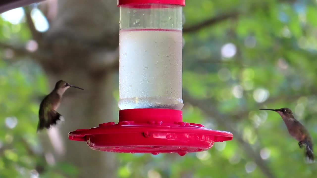
[[[55,84],[54,90],[49,93],[41,102],[39,110],[39,123],[37,125],[37,131],[43,128],[49,129],[50,125],[56,124],[57,120],[61,120],[62,115],[56,110],[61,103],[61,97],[63,93],[69,88],[79,88],[80,87],[69,85],[66,81],[59,80]]]

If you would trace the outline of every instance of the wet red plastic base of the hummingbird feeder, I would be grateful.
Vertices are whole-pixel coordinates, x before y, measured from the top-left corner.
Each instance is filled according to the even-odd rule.
[[[94,150],[118,153],[178,153],[210,149],[214,142],[232,140],[230,132],[182,122],[182,111],[145,108],[119,111],[119,123],[108,122],[68,133]]]

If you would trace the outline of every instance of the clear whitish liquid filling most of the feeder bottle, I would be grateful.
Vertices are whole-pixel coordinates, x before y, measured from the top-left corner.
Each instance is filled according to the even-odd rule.
[[[182,31],[120,31],[120,109],[181,109]]]

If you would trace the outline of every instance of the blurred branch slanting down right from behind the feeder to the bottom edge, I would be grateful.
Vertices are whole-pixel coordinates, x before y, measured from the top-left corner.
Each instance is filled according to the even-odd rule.
[[[183,99],[185,102],[189,102],[191,105],[200,108],[208,116],[213,116],[213,118],[217,121],[218,124],[221,124],[224,127],[228,128],[228,130],[230,130],[230,132],[233,134],[235,140],[237,140],[243,146],[245,153],[250,158],[254,159],[255,163],[259,166],[263,174],[266,175],[266,177],[268,178],[275,177],[272,174],[268,165],[262,160],[260,155],[257,153],[259,151],[253,150],[252,146],[243,140],[242,135],[229,122],[226,122],[226,120],[230,120],[229,116],[219,113],[216,109],[214,109],[214,107],[212,107],[213,105],[210,102],[206,103],[202,102],[201,100],[197,100],[190,97],[190,95],[187,92],[183,92]]]

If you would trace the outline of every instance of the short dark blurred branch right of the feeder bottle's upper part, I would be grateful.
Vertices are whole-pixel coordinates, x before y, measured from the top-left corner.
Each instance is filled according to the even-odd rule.
[[[203,22],[200,22],[200,23],[197,23],[191,27],[185,27],[183,28],[183,33],[189,33],[189,32],[194,32],[194,31],[197,31],[197,30],[200,30],[204,27],[207,27],[207,26],[212,26],[212,25],[215,25],[219,22],[223,22],[224,20],[227,20],[227,19],[231,19],[231,18],[236,18],[240,13],[238,12],[230,12],[230,13],[227,13],[227,14],[223,14],[223,15],[219,15],[219,16],[216,16],[216,17],[212,17],[206,21],[203,21]]]

